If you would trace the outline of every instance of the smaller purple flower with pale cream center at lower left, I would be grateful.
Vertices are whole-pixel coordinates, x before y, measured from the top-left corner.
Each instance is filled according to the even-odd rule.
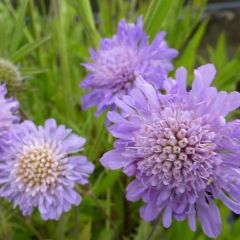
[[[11,145],[0,161],[0,195],[24,215],[34,207],[44,220],[59,219],[81,196],[76,183],[88,183],[94,166],[83,150],[85,139],[49,119],[44,127],[25,121],[10,131]]]

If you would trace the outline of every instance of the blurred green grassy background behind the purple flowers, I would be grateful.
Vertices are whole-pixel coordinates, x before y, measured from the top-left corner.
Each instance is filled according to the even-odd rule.
[[[1,71],[0,80],[19,100],[22,119],[42,124],[56,118],[87,139],[84,154],[96,165],[91,184],[79,189],[83,202],[59,221],[44,222],[37,212],[23,217],[1,200],[0,240],[207,239],[200,226],[193,233],[186,221],[164,229],[159,221],[139,218],[141,202],[125,199],[130,179],[99,164],[113,141],[105,115],[96,118],[95,109],[81,109],[79,83],[86,72],[80,64],[89,61],[88,49],[111,37],[120,19],[135,22],[139,15],[150,41],[166,31],[169,45],[179,50],[171,75],[185,66],[190,83],[193,69],[211,62],[217,68],[216,87],[240,90],[240,1],[0,0],[0,59],[16,65],[21,81],[3,79]],[[223,227],[218,239],[240,239],[239,217],[219,206]]]

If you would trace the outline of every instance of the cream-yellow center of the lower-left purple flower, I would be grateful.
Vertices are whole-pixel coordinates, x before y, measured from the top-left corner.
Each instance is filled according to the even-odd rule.
[[[62,171],[58,157],[47,146],[25,150],[15,167],[18,181],[33,194],[54,187]]]

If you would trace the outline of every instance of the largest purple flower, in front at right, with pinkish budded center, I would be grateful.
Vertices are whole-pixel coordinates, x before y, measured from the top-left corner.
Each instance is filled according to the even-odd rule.
[[[204,232],[216,237],[221,218],[215,198],[240,214],[240,122],[225,120],[240,106],[240,94],[210,87],[211,64],[194,74],[189,92],[186,70],[179,68],[176,81],[164,83],[165,95],[139,78],[129,96],[117,99],[121,113],[108,114],[115,149],[101,163],[135,176],[127,199],[143,199],[140,214],[146,221],[162,214],[169,227],[173,217],[187,218],[195,231],[198,217]]]

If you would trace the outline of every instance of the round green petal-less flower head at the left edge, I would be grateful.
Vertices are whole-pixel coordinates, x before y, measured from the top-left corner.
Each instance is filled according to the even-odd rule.
[[[17,87],[22,84],[23,77],[17,66],[6,59],[0,58],[0,83],[10,87]]]

